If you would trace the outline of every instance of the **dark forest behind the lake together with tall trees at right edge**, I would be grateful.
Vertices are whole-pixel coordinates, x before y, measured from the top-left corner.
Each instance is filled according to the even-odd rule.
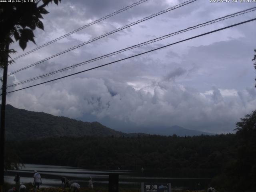
[[[6,152],[23,163],[137,171],[144,167],[148,175],[213,178],[214,186],[227,191],[255,190],[256,111],[236,126],[236,134],[215,136],[13,140],[6,142]]]

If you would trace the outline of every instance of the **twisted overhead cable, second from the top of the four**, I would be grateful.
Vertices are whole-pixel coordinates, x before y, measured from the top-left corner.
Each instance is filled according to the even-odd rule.
[[[24,70],[24,69],[30,68],[30,67],[32,67],[32,66],[35,66],[35,65],[37,65],[37,64],[40,64],[40,63],[42,63],[42,62],[44,62],[44,61],[47,61],[47,60],[49,60],[49,59],[51,59],[51,58],[54,58],[54,57],[56,57],[56,56],[59,56],[59,55],[64,54],[64,53],[66,53],[66,52],[69,52],[69,51],[71,51],[71,50],[74,50],[74,49],[76,49],[76,48],[78,48],[78,47],[81,47],[81,46],[84,46],[84,45],[89,44],[89,43],[91,43],[91,42],[94,42],[94,41],[96,41],[96,40],[98,40],[98,39],[100,39],[100,38],[106,37],[106,36],[108,36],[108,35],[110,35],[110,34],[113,34],[113,33],[115,33],[115,32],[118,32],[118,31],[120,31],[120,30],[123,30],[123,29],[125,29],[125,28],[128,28],[128,27],[130,27],[130,26],[136,25],[136,24],[138,24],[138,23],[140,23],[140,22],[144,22],[144,21],[146,21],[146,20],[148,20],[148,19],[154,18],[154,17],[156,17],[156,16],[158,16],[158,15],[161,15],[161,14],[163,14],[163,13],[166,13],[166,12],[169,12],[169,11],[174,10],[174,9],[176,9],[176,8],[180,8],[180,7],[182,7],[182,6],[185,6],[185,5],[187,5],[187,4],[190,4],[190,3],[194,2],[194,1],[197,1],[197,0],[189,0],[189,1],[186,1],[186,2],[184,2],[184,3],[182,3],[182,4],[178,4],[178,5],[176,5],[176,6],[173,6],[173,7],[171,7],[171,8],[168,8],[168,9],[166,9],[166,10],[163,10],[163,11],[160,11],[160,12],[158,12],[158,13],[152,14],[151,16],[148,16],[148,17],[145,17],[145,18],[143,18],[143,19],[137,20],[136,22],[132,22],[132,23],[130,23],[130,24],[128,24],[128,25],[125,25],[125,26],[123,26],[123,27],[120,27],[120,28],[118,28],[118,29],[116,29],[116,30],[113,30],[113,31],[111,31],[111,32],[108,32],[108,33],[106,33],[106,34],[104,34],[104,35],[98,36],[98,37],[96,37],[96,38],[94,38],[94,39],[91,39],[91,40],[89,40],[89,41],[87,41],[87,42],[84,42],[84,43],[82,43],[82,44],[79,44],[79,45],[77,45],[77,46],[74,46],[74,47],[72,47],[72,48],[69,48],[69,49],[64,50],[64,51],[62,51],[62,52],[59,52],[59,53],[57,53],[57,54],[55,54],[55,55],[52,55],[52,56],[50,56],[50,57],[48,57],[48,58],[45,58],[45,59],[43,59],[43,60],[41,60],[41,61],[38,61],[38,62],[34,63],[34,64],[28,65],[28,66],[26,66],[26,67],[24,67],[24,68],[21,68],[21,69],[19,69],[19,70],[16,70],[16,71],[14,71],[14,72],[11,72],[10,74],[8,74],[8,76],[10,76],[10,75],[12,75],[12,74],[15,74],[15,73],[17,73],[17,72],[19,72],[19,71],[21,71],[21,70]]]

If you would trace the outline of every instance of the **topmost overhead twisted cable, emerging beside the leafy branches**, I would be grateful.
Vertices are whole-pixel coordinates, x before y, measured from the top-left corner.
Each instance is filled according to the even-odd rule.
[[[67,37],[67,36],[70,36],[71,34],[73,34],[73,33],[75,33],[75,32],[78,32],[78,31],[80,31],[80,30],[82,30],[82,29],[84,29],[84,28],[86,28],[86,27],[89,27],[89,26],[91,26],[91,25],[93,25],[93,24],[96,24],[96,23],[98,23],[98,22],[100,22],[100,21],[103,21],[103,20],[105,20],[105,19],[107,19],[107,18],[110,18],[110,17],[112,17],[112,16],[114,16],[114,15],[116,15],[116,14],[119,14],[119,13],[125,11],[125,10],[128,10],[128,9],[130,9],[130,8],[136,6],[136,5],[139,5],[139,4],[141,4],[141,3],[144,3],[144,2],[146,2],[146,1],[148,1],[148,0],[140,0],[140,1],[136,2],[136,3],[134,3],[134,4],[131,4],[131,5],[127,6],[127,7],[125,7],[125,8],[122,8],[122,9],[120,9],[120,10],[114,12],[114,13],[111,13],[111,14],[109,14],[109,15],[107,15],[107,16],[104,16],[104,17],[98,19],[98,20],[95,20],[94,22],[91,22],[91,23],[89,23],[89,24],[86,24],[86,25],[84,25],[84,26],[82,26],[82,27],[80,27],[80,28],[78,28],[78,29],[76,29],[76,30],[74,30],[74,31],[72,31],[72,32],[69,32],[69,33],[67,33],[67,34],[65,34],[65,35],[63,35],[63,36],[60,36],[60,37],[58,37],[58,38],[56,38],[56,39],[54,39],[54,40],[52,40],[52,41],[50,41],[50,42],[48,42],[48,43],[46,43],[46,44],[43,44],[43,45],[41,45],[41,46],[39,46],[39,47],[37,47],[37,48],[35,48],[35,49],[30,50],[30,51],[28,51],[28,52],[26,52],[26,53],[24,53],[24,54],[22,54],[22,55],[20,55],[20,56],[18,56],[18,57],[16,57],[16,58],[12,59],[12,61],[15,61],[15,60],[17,60],[18,58],[21,58],[21,57],[23,57],[23,56],[25,56],[25,55],[27,55],[27,54],[30,54],[30,53],[32,53],[32,52],[38,50],[38,49],[41,49],[41,48],[43,48],[43,47],[45,47],[45,46],[48,46],[48,45],[50,45],[50,44],[52,44],[52,43],[54,43],[54,42],[56,42],[56,41],[58,41],[58,40],[60,40],[60,39],[63,39],[63,38],[65,38],[65,37]]]

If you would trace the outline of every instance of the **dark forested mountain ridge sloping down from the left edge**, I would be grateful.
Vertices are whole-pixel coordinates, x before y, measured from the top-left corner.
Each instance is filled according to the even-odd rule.
[[[82,122],[44,112],[32,112],[6,105],[6,140],[48,137],[128,136],[99,122]]]

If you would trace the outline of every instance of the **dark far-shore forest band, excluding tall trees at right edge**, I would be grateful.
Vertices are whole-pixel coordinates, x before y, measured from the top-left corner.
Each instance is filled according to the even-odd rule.
[[[235,135],[56,138],[7,142],[26,163],[90,169],[156,170],[172,176],[213,177],[234,158]]]

